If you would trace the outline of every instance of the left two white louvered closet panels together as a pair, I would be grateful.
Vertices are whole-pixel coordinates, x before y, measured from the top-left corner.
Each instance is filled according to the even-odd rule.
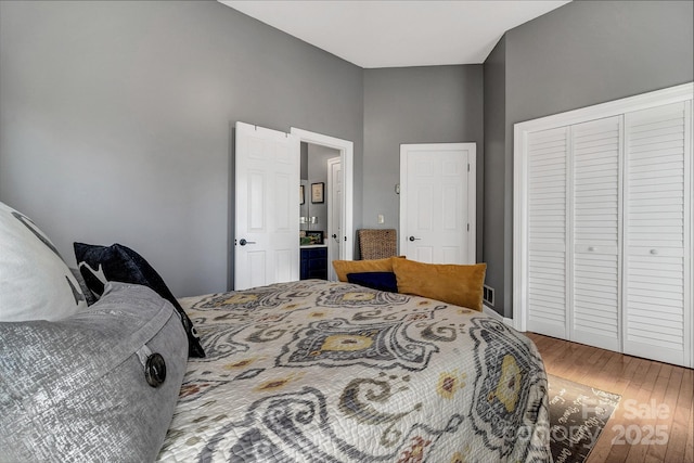
[[[620,349],[620,139],[619,116],[528,134],[532,332]]]

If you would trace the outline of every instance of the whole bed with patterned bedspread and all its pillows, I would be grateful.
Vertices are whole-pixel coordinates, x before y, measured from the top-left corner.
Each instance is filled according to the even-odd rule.
[[[0,203],[2,462],[550,460],[542,360],[480,311],[484,263],[177,299],[127,246],[74,248]]]

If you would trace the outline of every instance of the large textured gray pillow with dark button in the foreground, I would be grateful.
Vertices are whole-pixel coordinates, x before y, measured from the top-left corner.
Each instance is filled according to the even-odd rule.
[[[108,283],[63,320],[0,322],[0,460],[154,461],[187,363],[174,307]]]

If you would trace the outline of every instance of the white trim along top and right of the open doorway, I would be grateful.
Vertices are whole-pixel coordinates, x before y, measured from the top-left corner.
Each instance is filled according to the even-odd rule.
[[[354,151],[355,144],[348,140],[292,127],[290,133],[297,136],[300,142],[332,147],[339,152],[343,164],[343,240],[340,250],[343,260],[352,260],[354,236]]]

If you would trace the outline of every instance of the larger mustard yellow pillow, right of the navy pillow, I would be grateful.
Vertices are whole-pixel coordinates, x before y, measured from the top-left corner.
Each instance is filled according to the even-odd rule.
[[[398,293],[429,297],[481,311],[486,263],[458,266],[396,259],[393,261],[393,271],[398,281]]]

